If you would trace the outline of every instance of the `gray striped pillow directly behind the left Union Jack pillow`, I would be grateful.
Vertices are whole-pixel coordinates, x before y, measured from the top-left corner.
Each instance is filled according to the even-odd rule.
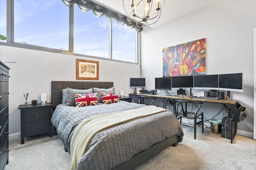
[[[74,88],[66,88],[67,96],[67,103],[66,106],[76,106],[75,101],[75,94],[90,94],[92,93],[92,88],[86,90],[74,89]]]

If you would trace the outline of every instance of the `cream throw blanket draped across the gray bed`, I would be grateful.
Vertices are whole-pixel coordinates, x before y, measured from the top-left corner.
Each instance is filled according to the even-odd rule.
[[[132,109],[103,115],[96,115],[84,119],[74,131],[71,139],[71,170],[77,169],[80,158],[88,150],[94,135],[120,123],[139,119],[162,111],[170,111],[156,106],[146,106],[139,109]]]

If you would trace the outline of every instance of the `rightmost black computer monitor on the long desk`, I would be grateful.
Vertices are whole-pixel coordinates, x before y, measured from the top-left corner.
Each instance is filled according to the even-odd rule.
[[[220,74],[219,90],[243,92],[243,73]]]

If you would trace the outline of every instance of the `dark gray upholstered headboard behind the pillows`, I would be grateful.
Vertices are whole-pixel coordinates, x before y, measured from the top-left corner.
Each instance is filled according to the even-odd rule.
[[[75,89],[111,88],[114,87],[114,82],[52,81],[51,100],[53,107],[62,104],[62,89],[67,87]]]

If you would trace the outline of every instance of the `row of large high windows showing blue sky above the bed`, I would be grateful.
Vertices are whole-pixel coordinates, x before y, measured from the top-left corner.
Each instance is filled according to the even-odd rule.
[[[8,41],[1,45],[138,63],[136,29],[141,30],[120,14],[117,22],[111,11],[111,16],[96,17],[76,4],[66,6],[65,0],[3,1],[0,20],[6,22],[0,23],[0,34]]]

